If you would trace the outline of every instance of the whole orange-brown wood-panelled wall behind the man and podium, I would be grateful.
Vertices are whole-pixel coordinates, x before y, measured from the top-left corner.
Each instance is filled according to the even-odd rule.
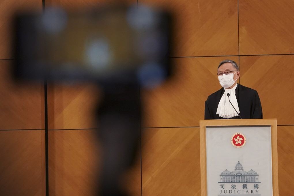
[[[62,6],[71,11],[105,2],[109,1],[45,0],[46,6]],[[174,56],[227,56],[174,58],[173,79],[158,89],[142,90],[143,127],[199,126],[199,119],[204,118],[204,101],[221,88],[215,74],[217,65],[226,58],[238,63],[238,56],[229,56],[238,55],[238,45],[240,55],[293,54],[292,1],[139,0],[138,3],[163,6],[176,14]],[[41,11],[42,1],[2,0],[0,5],[0,59],[10,59],[12,14],[19,9]],[[264,118],[278,118],[279,125],[293,125],[293,60],[293,56],[240,56],[240,83],[258,91]],[[14,84],[7,75],[10,63],[0,61],[0,129],[44,128],[43,84],[30,87]],[[276,96],[273,92],[283,95]],[[93,170],[99,164],[97,143],[92,130],[73,129],[96,126],[91,111],[99,95],[100,91],[91,84],[48,85],[50,195],[94,193]],[[293,139],[292,132],[293,126],[278,127],[281,195],[293,192],[289,188],[293,184],[293,153],[284,145]],[[143,133],[143,195],[200,195],[199,128],[151,128],[143,129]],[[0,194],[44,195],[44,132],[1,131],[0,134],[1,160],[7,160],[1,161],[1,167],[19,171],[11,175],[11,170],[3,170],[3,175],[11,180],[0,180]],[[16,159],[23,161],[13,162]],[[9,165],[12,162],[16,165]],[[141,195],[140,162],[130,173],[124,183],[131,195]],[[21,185],[20,188],[15,189],[14,183]]]

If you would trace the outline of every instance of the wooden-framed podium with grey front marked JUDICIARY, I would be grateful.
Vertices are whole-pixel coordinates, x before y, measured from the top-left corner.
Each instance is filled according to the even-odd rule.
[[[277,120],[200,120],[200,161],[201,196],[278,196]]]

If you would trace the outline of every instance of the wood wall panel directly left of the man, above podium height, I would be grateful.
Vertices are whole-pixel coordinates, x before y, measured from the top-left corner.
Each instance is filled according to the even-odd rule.
[[[199,126],[204,119],[204,102],[222,88],[218,81],[218,64],[237,56],[173,58],[174,76],[163,86],[143,90],[142,127]]]

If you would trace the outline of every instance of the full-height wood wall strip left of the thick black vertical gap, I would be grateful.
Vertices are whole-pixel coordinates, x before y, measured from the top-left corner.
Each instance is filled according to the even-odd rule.
[[[41,9],[42,0],[0,2],[0,195],[45,195],[44,83],[17,83],[8,60],[14,14]]]

